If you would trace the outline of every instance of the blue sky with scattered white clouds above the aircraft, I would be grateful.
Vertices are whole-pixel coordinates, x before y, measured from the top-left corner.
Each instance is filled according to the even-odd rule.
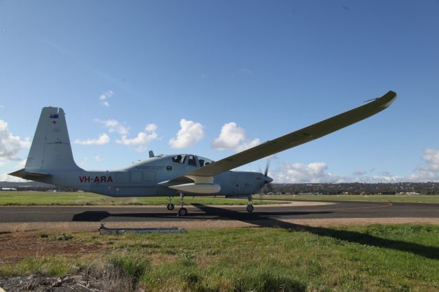
[[[0,1],[0,180],[43,106],[67,113],[78,165],[106,170],[150,149],[218,160],[394,90],[270,175],[439,181],[438,14],[433,0]]]

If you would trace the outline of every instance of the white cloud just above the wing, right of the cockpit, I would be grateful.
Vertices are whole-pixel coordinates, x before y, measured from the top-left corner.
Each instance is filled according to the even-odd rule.
[[[235,122],[230,122],[222,126],[218,138],[212,142],[212,147],[217,150],[233,149],[240,152],[259,144],[261,141],[258,138],[250,141],[244,128],[239,127]]]

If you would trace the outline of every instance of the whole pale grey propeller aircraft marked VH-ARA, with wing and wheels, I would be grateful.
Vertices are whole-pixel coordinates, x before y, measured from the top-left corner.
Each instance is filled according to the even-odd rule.
[[[24,169],[10,175],[65,186],[111,197],[169,197],[168,210],[174,209],[171,197],[180,194],[178,215],[187,214],[184,195],[228,195],[248,197],[272,182],[265,173],[230,171],[285,149],[296,147],[388,108],[396,99],[389,91],[382,97],[348,112],[320,121],[222,160],[213,161],[193,154],[158,155],[117,171],[85,171],[73,160],[66,119],[62,108],[43,108]]]

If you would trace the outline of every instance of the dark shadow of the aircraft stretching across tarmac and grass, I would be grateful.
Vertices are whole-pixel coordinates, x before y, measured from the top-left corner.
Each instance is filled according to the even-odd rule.
[[[330,212],[239,212],[237,210],[222,209],[212,206],[205,206],[202,204],[192,204],[198,209],[202,210],[204,214],[190,213],[184,219],[229,219],[238,220],[250,224],[254,224],[264,228],[285,228],[287,230],[296,232],[310,232],[318,236],[327,236],[340,241],[350,243],[359,243],[361,245],[370,245],[375,247],[384,247],[391,250],[399,250],[401,252],[410,252],[423,256],[425,258],[439,259],[439,248],[418,243],[408,243],[405,241],[396,241],[392,239],[383,239],[381,237],[364,234],[350,230],[336,230],[323,227],[304,226],[296,223],[289,223],[275,219],[274,217],[281,217],[285,215],[307,215],[307,214],[327,214]],[[133,217],[133,218],[176,218],[175,215],[170,215],[169,212],[163,213],[110,213],[107,211],[86,211],[74,215],[72,221],[102,221],[108,217]]]

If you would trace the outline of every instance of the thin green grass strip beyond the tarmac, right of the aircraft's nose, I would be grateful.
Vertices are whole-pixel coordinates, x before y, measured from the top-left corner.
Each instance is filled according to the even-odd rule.
[[[292,199],[316,201],[375,201],[439,204],[439,195],[254,195],[254,199]]]

